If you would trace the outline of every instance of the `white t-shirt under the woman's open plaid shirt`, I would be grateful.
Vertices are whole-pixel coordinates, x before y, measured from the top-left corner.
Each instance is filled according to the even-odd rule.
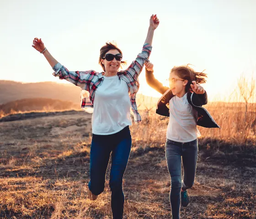
[[[131,101],[127,83],[117,75],[106,77],[96,89],[93,103],[92,133],[111,135],[132,125]]]

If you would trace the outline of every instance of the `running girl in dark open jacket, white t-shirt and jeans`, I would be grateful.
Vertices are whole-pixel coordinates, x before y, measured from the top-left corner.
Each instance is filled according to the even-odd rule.
[[[180,206],[189,202],[187,189],[195,181],[198,141],[197,125],[206,128],[220,128],[202,105],[207,104],[207,94],[199,84],[205,83],[205,73],[195,72],[188,65],[171,69],[170,88],[165,87],[153,74],[153,64],[147,62],[146,80],[150,87],[162,97],[156,106],[156,113],[170,117],[167,127],[165,155],[171,176],[170,202],[172,219],[180,218]],[[182,157],[182,160],[181,160]],[[181,180],[181,161],[183,180]]]

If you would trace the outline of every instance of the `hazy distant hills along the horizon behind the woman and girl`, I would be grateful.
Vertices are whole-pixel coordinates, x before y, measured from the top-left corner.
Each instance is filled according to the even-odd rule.
[[[140,110],[154,110],[158,99],[137,94],[137,105]],[[233,110],[234,106],[245,108],[244,103],[230,105],[224,102],[208,103],[206,108],[212,108],[217,105],[225,106],[226,110]],[[256,104],[253,105],[256,106]],[[11,110],[16,112],[80,110],[80,87],[71,83],[21,83],[0,80],[1,110],[4,114],[9,114]]]

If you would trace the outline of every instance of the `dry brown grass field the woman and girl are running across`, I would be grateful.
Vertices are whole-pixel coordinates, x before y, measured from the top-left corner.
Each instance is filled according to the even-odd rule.
[[[207,109],[221,129],[199,127],[196,183],[189,189],[191,202],[181,208],[181,218],[256,218],[255,104],[248,104],[246,115],[242,103],[210,103]],[[143,122],[131,126],[124,218],[170,219],[168,119],[152,110],[141,112]],[[87,198],[90,114],[71,110],[8,118],[11,115],[0,120],[0,218],[112,218],[107,181],[95,202]]]

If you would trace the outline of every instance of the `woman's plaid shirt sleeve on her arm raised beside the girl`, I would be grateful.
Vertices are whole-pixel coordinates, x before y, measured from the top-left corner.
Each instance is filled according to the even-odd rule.
[[[148,43],[143,45],[142,51],[139,53],[137,58],[132,62],[132,64],[125,70],[133,78],[138,78],[139,74],[144,67],[145,62],[149,62],[149,56],[151,53],[152,46]]]

